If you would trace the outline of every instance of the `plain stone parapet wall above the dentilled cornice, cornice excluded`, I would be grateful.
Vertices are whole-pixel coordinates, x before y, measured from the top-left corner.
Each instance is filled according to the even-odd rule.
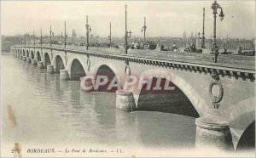
[[[86,47],[67,45],[55,45],[52,44],[36,44],[36,45],[22,45],[17,47],[29,47],[29,48],[54,48],[54,49],[67,49],[84,53],[101,53],[101,54],[119,54],[126,55],[123,48],[102,48],[102,47]],[[157,50],[143,50],[143,49],[129,49],[127,56],[146,58],[146,59],[159,59],[159,60],[173,60],[178,62],[195,63],[199,65],[219,65],[236,67],[241,69],[255,70],[255,58],[254,56],[242,56],[234,54],[218,54],[218,63],[214,63],[214,54],[194,54],[188,52],[171,52],[171,51],[157,51]]]

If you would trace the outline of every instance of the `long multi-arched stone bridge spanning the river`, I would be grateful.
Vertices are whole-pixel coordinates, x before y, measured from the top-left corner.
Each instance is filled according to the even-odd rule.
[[[119,90],[116,107],[196,117],[196,147],[208,144],[236,150],[242,144],[254,143],[254,57],[219,54],[216,63],[214,54],[130,49],[125,54],[120,48],[85,50],[55,45],[18,45],[11,52],[38,68],[47,68],[49,73],[60,73],[61,79],[67,80],[99,74],[110,78],[172,76],[175,93]]]

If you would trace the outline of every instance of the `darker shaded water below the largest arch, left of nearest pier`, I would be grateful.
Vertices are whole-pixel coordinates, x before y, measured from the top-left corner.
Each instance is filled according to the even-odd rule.
[[[135,112],[140,138],[146,146],[194,147],[195,118],[160,112]]]

